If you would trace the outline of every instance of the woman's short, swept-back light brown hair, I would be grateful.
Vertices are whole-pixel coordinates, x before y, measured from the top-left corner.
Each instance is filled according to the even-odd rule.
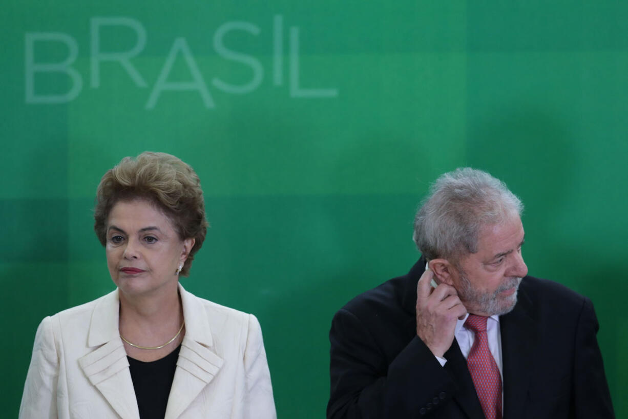
[[[107,170],[96,190],[94,230],[107,243],[107,219],[118,201],[146,199],[170,219],[181,240],[194,238],[194,246],[180,275],[188,276],[194,254],[203,245],[207,227],[200,180],[190,165],[170,154],[143,152],[124,157]]]

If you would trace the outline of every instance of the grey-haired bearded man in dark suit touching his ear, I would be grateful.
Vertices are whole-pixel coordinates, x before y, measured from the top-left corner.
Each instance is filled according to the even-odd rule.
[[[593,305],[527,276],[521,211],[480,170],[433,184],[421,259],[333,318],[328,419],[614,418]]]

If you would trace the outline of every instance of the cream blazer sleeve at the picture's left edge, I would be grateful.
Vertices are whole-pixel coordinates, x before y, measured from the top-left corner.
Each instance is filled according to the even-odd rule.
[[[43,319],[35,334],[33,355],[26,374],[19,419],[57,418],[59,357],[50,317]]]

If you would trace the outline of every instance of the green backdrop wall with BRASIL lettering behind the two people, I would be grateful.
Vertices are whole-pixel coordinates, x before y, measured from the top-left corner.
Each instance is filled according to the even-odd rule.
[[[628,416],[628,3],[5,0],[3,416],[36,327],[113,289],[100,176],[144,150],[198,172],[187,289],[261,321],[281,418],[322,418],[327,333],[418,257],[414,210],[463,165],[526,204],[529,272],[592,298]]]

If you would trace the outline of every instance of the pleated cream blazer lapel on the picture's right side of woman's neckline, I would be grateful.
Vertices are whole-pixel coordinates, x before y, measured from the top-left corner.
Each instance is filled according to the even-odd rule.
[[[165,419],[178,418],[214,379],[224,360],[212,350],[214,341],[205,308],[179,284],[185,337],[176,361],[175,378],[168,396]]]

